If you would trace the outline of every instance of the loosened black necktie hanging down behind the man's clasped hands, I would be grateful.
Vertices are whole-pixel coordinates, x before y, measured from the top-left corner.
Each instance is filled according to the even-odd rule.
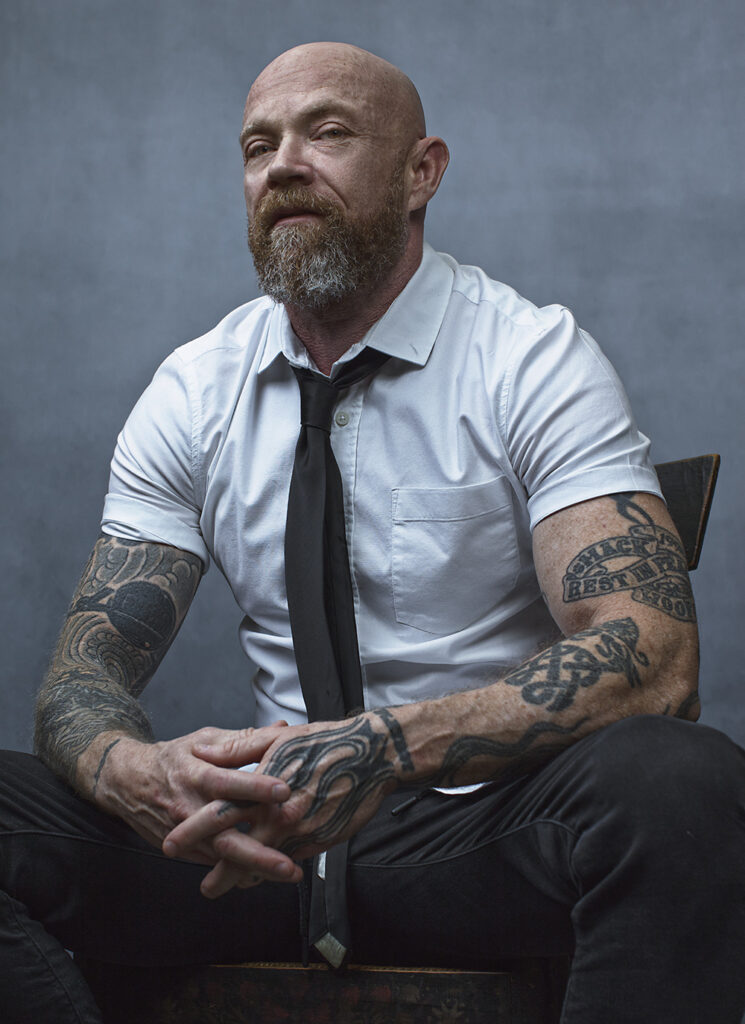
[[[365,348],[333,380],[293,367],[300,385],[300,437],[290,482],[284,530],[284,582],[295,659],[308,721],[339,721],[361,709],[354,596],[344,522],[342,477],[331,444],[340,392],[375,373],[388,358]],[[347,844],[325,858],[325,881],[314,863],[310,941],[335,967],[349,948]]]

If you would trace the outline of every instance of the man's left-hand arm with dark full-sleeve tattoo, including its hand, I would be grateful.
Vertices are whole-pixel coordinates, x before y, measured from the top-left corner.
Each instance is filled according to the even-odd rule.
[[[36,712],[36,750],[102,810],[160,846],[188,814],[216,799],[289,795],[276,779],[215,768],[191,746],[214,731],[155,742],[137,697],[168,650],[202,575],[194,555],[162,544],[101,537],[73,598]],[[264,851],[259,851],[261,855]],[[264,868],[289,858],[270,851]],[[189,859],[214,863],[210,844]]]

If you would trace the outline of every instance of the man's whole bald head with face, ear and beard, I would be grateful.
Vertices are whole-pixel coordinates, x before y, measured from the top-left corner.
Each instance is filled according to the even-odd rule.
[[[321,291],[331,302],[332,282],[334,301],[366,295],[370,315],[376,292],[385,309],[419,266],[425,210],[447,165],[409,79],[357,46],[296,46],[252,85],[240,144],[250,245],[267,294],[310,308],[312,291],[315,308]],[[354,266],[341,274],[335,253]],[[275,270],[281,288],[271,285]]]

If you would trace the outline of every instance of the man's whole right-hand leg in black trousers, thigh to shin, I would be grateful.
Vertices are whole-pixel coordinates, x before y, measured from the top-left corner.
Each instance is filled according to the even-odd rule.
[[[353,844],[355,958],[487,967],[568,951],[571,921],[566,1024],[739,1024],[745,755],[720,733],[629,719],[408,815]]]

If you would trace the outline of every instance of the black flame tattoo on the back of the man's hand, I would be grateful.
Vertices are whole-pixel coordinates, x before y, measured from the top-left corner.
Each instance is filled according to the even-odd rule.
[[[387,745],[388,736],[377,732],[366,718],[357,718],[323,732],[289,739],[277,748],[266,766],[267,775],[280,777],[292,790],[300,790],[317,774],[315,796],[305,818],[321,810],[333,787],[338,788],[342,782],[346,788],[331,817],[310,835],[290,839],[282,847],[284,853],[292,856],[308,843],[333,839],[347,827],[375,790],[395,779],[396,773],[386,757]],[[324,764],[326,759],[328,763]]]

